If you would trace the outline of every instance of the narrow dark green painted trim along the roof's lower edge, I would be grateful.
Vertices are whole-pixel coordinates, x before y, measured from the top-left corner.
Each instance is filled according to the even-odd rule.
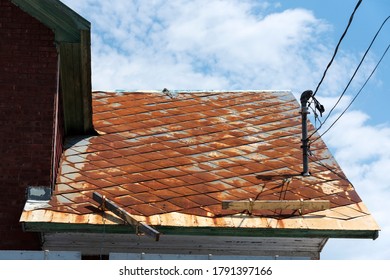
[[[129,225],[92,225],[69,223],[23,222],[25,231],[33,232],[90,232],[90,233],[129,233],[135,228]],[[243,237],[290,237],[290,238],[357,238],[378,237],[377,230],[322,230],[322,229],[272,229],[272,228],[216,228],[216,227],[168,227],[155,226],[163,235],[194,236],[243,236]]]

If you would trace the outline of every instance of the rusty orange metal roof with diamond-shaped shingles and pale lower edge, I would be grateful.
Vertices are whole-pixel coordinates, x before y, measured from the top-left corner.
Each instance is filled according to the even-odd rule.
[[[300,108],[288,91],[94,92],[93,110],[99,135],[67,139],[52,199],[27,207],[22,222],[102,224],[98,191],[151,225],[379,230],[321,139],[311,176],[301,176]],[[331,208],[221,206],[249,199]],[[251,219],[232,222],[237,215]]]

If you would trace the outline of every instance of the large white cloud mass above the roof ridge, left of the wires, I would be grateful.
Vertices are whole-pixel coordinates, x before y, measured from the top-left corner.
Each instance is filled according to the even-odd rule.
[[[306,89],[316,81],[308,53],[324,56],[312,43],[328,26],[303,9],[266,15],[270,4],[258,1],[65,2],[92,22],[94,89]]]

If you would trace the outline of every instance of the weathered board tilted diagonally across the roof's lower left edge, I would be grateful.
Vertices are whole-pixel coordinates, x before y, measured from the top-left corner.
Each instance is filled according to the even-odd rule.
[[[137,221],[132,217],[125,209],[119,207],[115,202],[107,199],[105,196],[101,195],[98,192],[92,194],[93,200],[100,204],[103,211],[110,210],[115,215],[123,219],[126,223],[135,226],[136,233],[144,233],[150,237],[153,237],[156,241],[160,239],[160,232],[152,228],[151,226]]]

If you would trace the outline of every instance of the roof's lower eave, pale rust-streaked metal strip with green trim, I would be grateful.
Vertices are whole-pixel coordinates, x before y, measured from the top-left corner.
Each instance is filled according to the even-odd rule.
[[[226,217],[200,217],[168,213],[150,217],[133,216],[164,235],[247,236],[294,238],[360,238],[376,239],[379,226],[365,214],[362,203],[314,213],[275,219],[246,214]],[[361,213],[359,216],[356,212]],[[355,215],[350,217],[351,213]],[[76,215],[44,209],[24,211],[20,221],[25,231],[91,232],[136,234],[134,226],[125,224],[115,214],[106,211]]]

